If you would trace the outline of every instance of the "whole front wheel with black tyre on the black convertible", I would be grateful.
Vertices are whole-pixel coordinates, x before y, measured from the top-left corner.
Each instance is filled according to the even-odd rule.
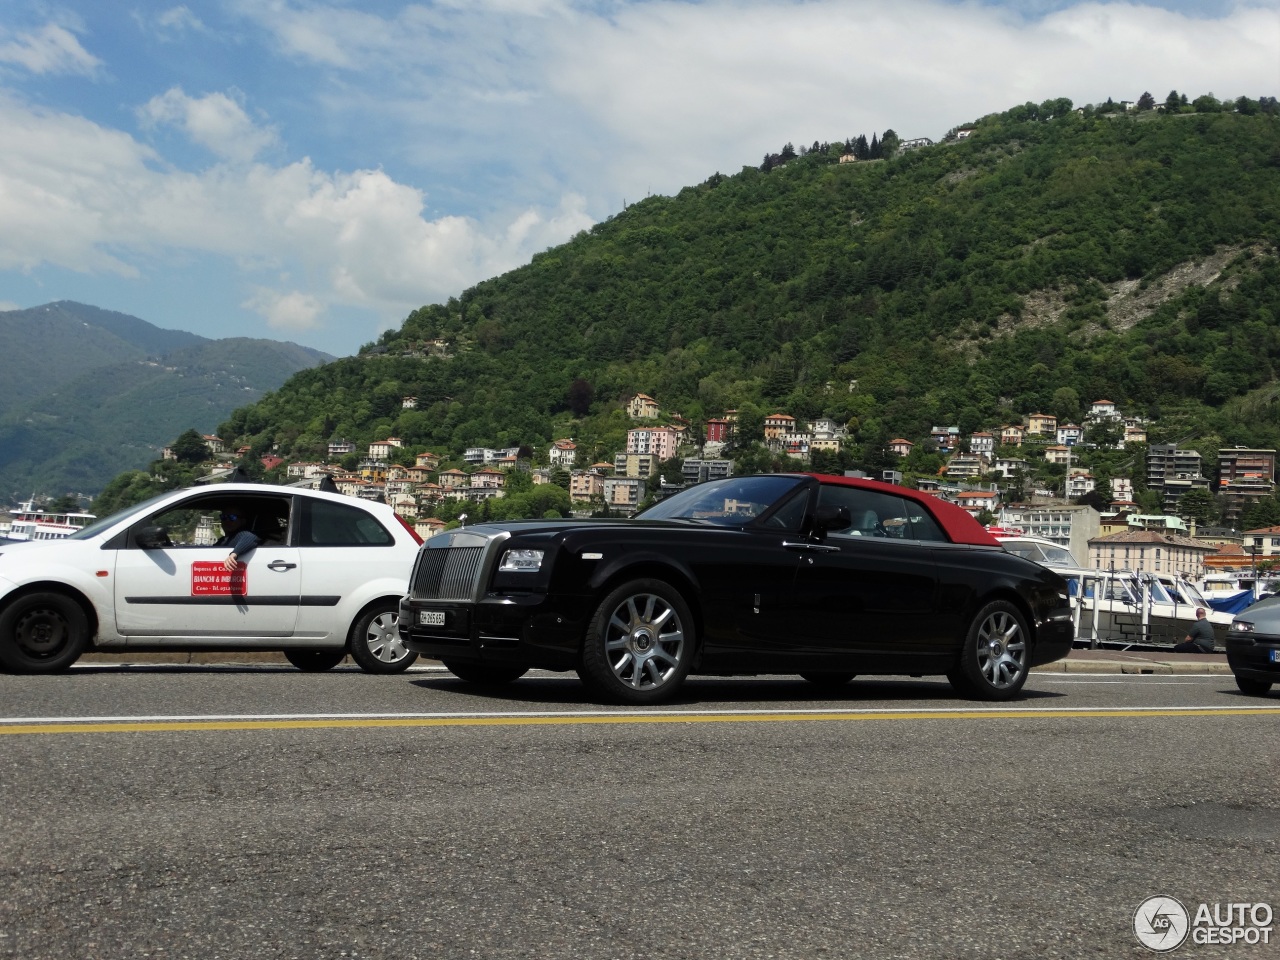
[[[662,580],[632,580],[595,608],[577,675],[611,703],[660,703],[689,676],[695,641],[694,617],[678,590]]]

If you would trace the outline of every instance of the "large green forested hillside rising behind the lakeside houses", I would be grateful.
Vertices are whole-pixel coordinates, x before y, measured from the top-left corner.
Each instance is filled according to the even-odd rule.
[[[535,458],[573,436],[595,460],[644,392],[694,422],[737,408],[748,433],[773,410],[836,417],[852,443],[831,466],[1100,398],[1156,442],[1280,447],[1280,116],[1069,108],[887,160],[815,142],[650,197],[220,433],[307,458],[335,435]]]

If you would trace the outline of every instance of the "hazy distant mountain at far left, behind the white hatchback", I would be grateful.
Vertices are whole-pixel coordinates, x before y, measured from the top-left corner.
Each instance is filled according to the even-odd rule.
[[[330,357],[294,343],[211,340],[63,301],[0,312],[0,490],[95,493],[155,460],[183,429]]]

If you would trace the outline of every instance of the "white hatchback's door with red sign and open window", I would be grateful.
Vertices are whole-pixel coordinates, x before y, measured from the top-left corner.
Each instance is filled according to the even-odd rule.
[[[289,637],[298,618],[302,561],[288,540],[292,497],[255,497],[255,515],[279,518],[274,531],[228,572],[228,548],[214,545],[227,497],[201,494],[138,521],[115,562],[115,625],[127,643],[251,644]],[[242,497],[238,503],[246,503]],[[243,508],[243,507],[242,507]],[[156,538],[159,532],[159,544]],[[147,545],[156,544],[156,545]]]

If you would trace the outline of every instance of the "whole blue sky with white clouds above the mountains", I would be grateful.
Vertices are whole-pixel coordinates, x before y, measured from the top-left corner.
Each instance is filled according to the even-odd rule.
[[[1280,0],[0,0],[0,310],[343,356],[788,141],[1170,90],[1280,96]]]

